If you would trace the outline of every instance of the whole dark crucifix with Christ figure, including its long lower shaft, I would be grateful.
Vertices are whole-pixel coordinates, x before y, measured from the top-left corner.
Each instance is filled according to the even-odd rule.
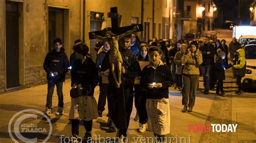
[[[110,8],[107,16],[111,18],[112,28],[105,28],[101,31],[95,31],[89,33],[89,39],[103,39],[109,42],[110,44],[110,53],[109,53],[109,63],[112,65],[110,67],[112,71],[112,75],[116,75],[116,88],[113,88],[112,94],[113,97],[111,99],[111,111],[110,115],[113,120],[113,123],[117,128],[127,128],[126,122],[126,114],[125,114],[125,98],[124,98],[124,84],[121,84],[119,81],[120,74],[115,73],[113,69],[113,63],[117,62],[117,70],[120,71],[120,66],[122,66],[122,56],[120,56],[120,52],[118,49],[118,39],[124,37],[127,34],[131,34],[132,32],[143,31],[142,24],[139,25],[131,25],[125,27],[118,27],[118,18],[119,14],[117,13],[117,7]],[[111,42],[111,43],[110,43]],[[112,45],[112,46],[111,46]],[[106,58],[106,57],[105,57]],[[116,61],[113,61],[116,60]],[[118,71],[118,72],[119,72]],[[115,77],[114,77],[115,78]],[[120,83],[120,84],[119,84]],[[110,85],[110,87],[114,87],[115,85]]]

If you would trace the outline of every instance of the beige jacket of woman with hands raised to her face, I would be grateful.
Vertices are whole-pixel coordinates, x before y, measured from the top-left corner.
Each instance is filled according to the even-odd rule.
[[[194,54],[184,54],[181,58],[181,64],[184,65],[183,74],[199,75],[199,66],[203,62],[202,54],[197,52]]]

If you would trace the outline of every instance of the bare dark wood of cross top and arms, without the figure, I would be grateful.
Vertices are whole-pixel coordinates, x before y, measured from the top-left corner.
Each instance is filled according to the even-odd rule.
[[[137,30],[135,32],[143,31],[142,24],[134,24],[134,25],[130,25],[130,26],[118,27],[119,14],[117,12],[117,7],[110,8],[110,12],[107,13],[107,17],[111,18],[112,32],[116,35],[120,35],[120,34],[125,33],[126,31],[131,30],[135,25],[139,26],[139,30]],[[94,37],[92,37],[92,35],[91,35],[92,33],[95,33],[96,35],[100,35],[102,37],[105,35],[105,33],[102,30],[95,31],[95,32],[89,32],[89,39],[95,39]]]

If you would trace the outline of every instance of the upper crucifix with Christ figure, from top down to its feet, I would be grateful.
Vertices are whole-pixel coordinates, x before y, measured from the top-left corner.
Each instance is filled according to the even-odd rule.
[[[119,52],[118,40],[122,39],[126,35],[131,34],[132,32],[141,31],[142,24],[140,25],[131,25],[125,27],[118,28],[118,18],[119,14],[117,13],[117,7],[110,8],[109,13],[107,13],[108,17],[111,17],[111,27],[104,28],[102,31],[90,32],[89,38],[98,38],[103,41],[109,42],[110,51],[109,54],[109,62],[110,62],[110,69],[112,71],[114,81],[116,83],[116,87],[120,88],[121,81],[121,68],[122,68],[122,55]],[[140,26],[140,27],[139,27]],[[116,71],[117,70],[117,71]],[[117,72],[117,73],[116,73]]]

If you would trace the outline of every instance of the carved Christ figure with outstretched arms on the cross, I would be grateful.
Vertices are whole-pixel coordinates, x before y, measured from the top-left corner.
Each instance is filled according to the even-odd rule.
[[[131,34],[134,31],[137,31],[138,29],[139,29],[139,27],[137,25],[135,25],[131,30],[126,31],[123,34],[116,35],[111,31],[112,28],[109,27],[109,28],[104,28],[104,30],[103,30],[105,33],[104,36],[99,36],[99,35],[96,35],[95,33],[92,33],[92,37],[109,42],[109,45],[110,45],[110,54],[109,54],[110,69],[113,74],[114,82],[116,83],[117,88],[120,88],[120,84],[122,83],[121,69],[122,69],[122,63],[123,63],[122,55],[119,51],[118,40],[122,39],[126,35]],[[117,71],[116,71],[116,69],[117,69]]]

